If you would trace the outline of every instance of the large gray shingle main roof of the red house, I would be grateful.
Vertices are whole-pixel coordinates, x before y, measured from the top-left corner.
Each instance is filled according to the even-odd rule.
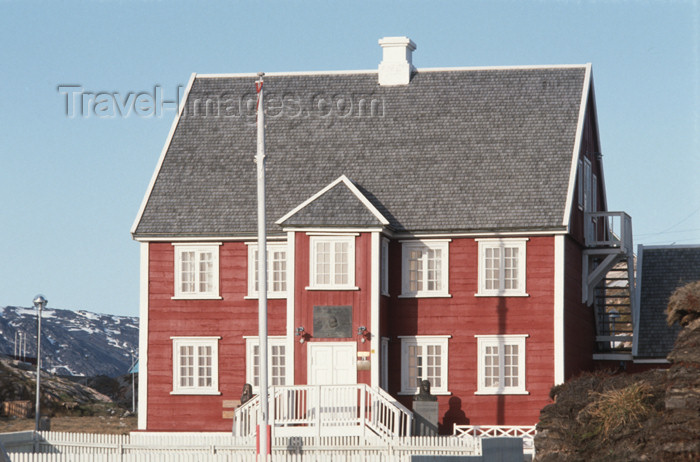
[[[586,69],[266,76],[270,232],[343,174],[396,231],[561,229]],[[255,234],[254,80],[194,80],[135,237]]]

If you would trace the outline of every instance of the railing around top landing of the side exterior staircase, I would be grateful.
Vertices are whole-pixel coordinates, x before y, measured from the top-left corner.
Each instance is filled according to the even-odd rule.
[[[625,212],[587,212],[587,247],[616,247],[632,252],[632,218]]]

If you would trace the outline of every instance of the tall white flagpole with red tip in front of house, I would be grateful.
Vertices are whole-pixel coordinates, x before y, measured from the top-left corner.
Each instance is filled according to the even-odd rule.
[[[263,75],[258,73],[255,89],[258,93],[258,150],[255,156],[258,172],[258,353],[260,356],[260,460],[268,455],[268,380],[267,380],[267,236],[265,234],[265,111],[263,110]]]

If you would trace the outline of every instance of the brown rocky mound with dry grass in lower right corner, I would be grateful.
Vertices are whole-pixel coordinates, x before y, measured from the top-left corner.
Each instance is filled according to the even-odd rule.
[[[552,388],[537,460],[700,460],[700,319],[679,333],[668,359],[668,370],[585,374]]]

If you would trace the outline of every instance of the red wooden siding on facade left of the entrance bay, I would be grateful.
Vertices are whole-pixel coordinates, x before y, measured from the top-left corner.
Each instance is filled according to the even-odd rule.
[[[220,246],[222,300],[172,300],[174,248],[149,245],[148,430],[229,431],[223,400],[240,399],[245,383],[245,340],[256,336],[257,300],[247,295],[248,249],[242,242]],[[268,302],[270,335],[284,335],[286,300]],[[220,336],[218,396],[171,395],[173,336]],[[186,422],[186,428],[183,423]]]

